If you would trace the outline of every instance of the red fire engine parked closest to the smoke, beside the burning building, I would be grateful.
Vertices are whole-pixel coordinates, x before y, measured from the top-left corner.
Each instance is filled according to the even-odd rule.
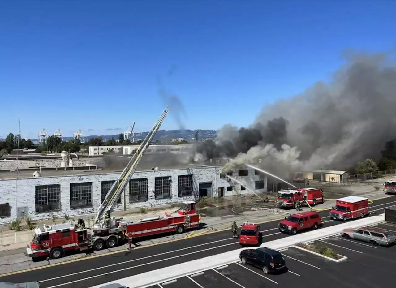
[[[281,190],[278,191],[278,198],[275,204],[278,208],[295,208],[297,203],[301,206],[307,205],[307,201],[311,206],[324,202],[323,191],[320,188],[305,188],[297,190]]]

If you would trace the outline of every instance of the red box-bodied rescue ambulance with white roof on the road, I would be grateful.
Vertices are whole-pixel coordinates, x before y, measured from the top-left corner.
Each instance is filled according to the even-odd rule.
[[[369,215],[369,200],[359,196],[347,196],[335,200],[335,206],[330,210],[330,218],[346,221]]]

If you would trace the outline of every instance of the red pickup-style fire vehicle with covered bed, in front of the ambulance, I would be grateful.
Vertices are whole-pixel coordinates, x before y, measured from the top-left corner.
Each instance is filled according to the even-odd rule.
[[[322,218],[313,211],[291,214],[279,222],[279,231],[296,235],[298,231],[305,229],[318,229],[322,225]]]

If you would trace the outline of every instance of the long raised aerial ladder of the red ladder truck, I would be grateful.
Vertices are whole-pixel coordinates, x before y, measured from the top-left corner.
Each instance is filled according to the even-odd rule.
[[[135,154],[133,154],[128,165],[122,171],[121,175],[114,182],[114,184],[110,187],[109,192],[106,194],[105,199],[103,200],[103,203],[101,204],[101,206],[99,206],[99,209],[96,213],[95,223],[101,222],[101,220],[103,220],[104,214],[109,210],[110,210],[110,212],[112,212],[112,210],[114,209],[114,206],[115,206],[118,198],[121,196],[122,191],[124,191],[129,179],[131,179],[133,173],[136,170],[137,164],[139,164],[141,158],[143,157],[143,155],[147,151],[148,147],[150,146],[150,143],[152,142],[154,135],[160,129],[161,124],[162,124],[162,122],[164,122],[165,117],[168,114],[168,112],[169,112],[169,108],[166,107],[164,112],[162,112],[160,118],[158,118],[157,122],[151,128],[150,132],[148,132],[146,138],[141,143],[141,145],[139,146],[139,148],[137,149]]]

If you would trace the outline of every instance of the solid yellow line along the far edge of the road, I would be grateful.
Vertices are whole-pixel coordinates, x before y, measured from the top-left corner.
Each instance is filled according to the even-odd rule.
[[[386,196],[386,197],[383,197],[383,198],[375,199],[373,201],[377,201],[377,200],[381,200],[381,199],[385,199],[385,198],[389,198],[389,197]],[[384,206],[384,205],[388,205],[388,204],[392,204],[392,203],[396,203],[396,201],[386,202],[386,203],[378,204],[378,205],[374,205],[374,206],[369,206],[369,208],[375,208],[375,207]],[[396,205],[393,205],[393,206],[396,206]],[[390,207],[393,207],[393,206],[389,206],[389,207],[385,207],[385,208],[390,208]],[[378,210],[382,210],[382,209],[385,209],[385,208],[380,208],[380,209],[372,210],[372,211],[369,211],[369,212],[378,211]],[[325,217],[321,217],[321,218],[324,219],[324,218],[329,218],[329,217],[330,216],[325,216]],[[275,221],[280,221],[280,220],[283,220],[283,219],[284,219],[284,217],[278,218],[278,219],[264,221],[264,222],[261,222],[261,223],[258,223],[258,224],[266,224],[266,223],[271,223],[271,222],[275,222]],[[327,223],[327,222],[330,222],[330,221],[324,221],[322,223]],[[384,224],[385,225],[389,225],[389,224],[386,224],[386,223],[384,223]],[[394,226],[394,225],[390,225],[390,226]],[[276,230],[276,229],[278,229],[278,228],[273,228],[273,229],[270,229],[270,230]],[[201,233],[197,233],[195,235],[192,235],[188,239],[194,238],[194,237],[197,237],[197,236],[206,236],[206,235],[213,234],[213,233],[224,232],[224,231],[227,231],[227,230],[228,229],[222,229],[222,230],[209,231],[209,232],[207,232],[208,230],[206,230],[206,231],[204,231],[205,233],[202,233],[202,234]],[[228,239],[231,239],[231,238],[221,239],[221,240],[217,240],[217,241],[220,242],[220,241],[225,241],[225,240],[228,240]],[[144,245],[144,246],[139,246],[139,247],[134,248],[133,250],[141,249],[141,248],[148,248],[148,247],[157,246],[157,245],[160,245],[160,244],[167,244],[167,243],[176,242],[176,241],[179,241],[179,240],[185,240],[185,238],[183,237],[183,238],[172,239],[172,240],[168,240],[168,241],[148,244],[148,245]],[[216,242],[216,241],[214,241],[214,242]],[[210,243],[211,242],[200,244],[200,245],[207,245],[207,244],[210,244]],[[375,247],[372,247],[372,248],[375,248]],[[106,253],[106,254],[93,255],[93,256],[89,256],[89,257],[81,257],[79,259],[67,260],[67,261],[60,262],[60,263],[53,263],[53,264],[50,264],[50,265],[43,265],[43,266],[40,266],[40,267],[34,267],[34,268],[24,269],[24,270],[15,271],[15,272],[4,273],[4,274],[0,275],[0,278],[1,277],[5,277],[5,276],[10,276],[10,275],[16,275],[16,274],[21,274],[21,273],[25,273],[25,272],[30,272],[30,271],[35,271],[35,270],[55,267],[55,266],[58,266],[58,265],[65,265],[65,264],[75,263],[75,262],[78,262],[78,261],[93,259],[93,258],[97,258],[97,257],[110,256],[112,254],[120,254],[120,253],[128,252],[128,251],[129,251],[128,249],[123,249],[123,250],[109,252],[109,253]],[[165,253],[167,253],[167,252],[165,252]],[[169,253],[171,253],[171,251]]]

